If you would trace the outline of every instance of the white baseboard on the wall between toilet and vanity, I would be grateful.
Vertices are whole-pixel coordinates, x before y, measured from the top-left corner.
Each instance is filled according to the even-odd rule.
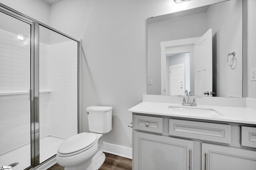
[[[132,148],[103,142],[103,152],[132,159]]]

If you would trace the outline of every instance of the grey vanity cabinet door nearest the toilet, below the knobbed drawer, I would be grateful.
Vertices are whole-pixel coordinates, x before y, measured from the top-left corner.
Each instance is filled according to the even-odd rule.
[[[192,170],[192,151],[193,141],[135,131],[133,170]]]

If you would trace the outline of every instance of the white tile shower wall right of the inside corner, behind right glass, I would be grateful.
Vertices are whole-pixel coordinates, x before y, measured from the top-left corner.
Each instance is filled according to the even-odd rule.
[[[78,128],[77,43],[67,41],[51,47],[52,134],[68,138]]]

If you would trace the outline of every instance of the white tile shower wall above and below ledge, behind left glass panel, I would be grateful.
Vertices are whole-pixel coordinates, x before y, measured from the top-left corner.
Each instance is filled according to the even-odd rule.
[[[0,93],[30,89],[30,39],[0,30]],[[28,94],[0,96],[0,154],[30,142]]]

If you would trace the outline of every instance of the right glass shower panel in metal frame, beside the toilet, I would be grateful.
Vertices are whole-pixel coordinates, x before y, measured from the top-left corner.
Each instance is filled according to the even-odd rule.
[[[39,25],[40,164],[78,133],[78,42]]]

